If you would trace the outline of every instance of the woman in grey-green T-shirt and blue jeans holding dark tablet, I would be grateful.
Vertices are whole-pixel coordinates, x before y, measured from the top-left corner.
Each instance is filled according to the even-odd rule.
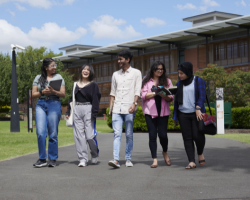
[[[58,159],[58,124],[61,118],[60,97],[65,96],[65,82],[60,74],[56,74],[57,65],[51,58],[45,58],[41,67],[41,74],[33,81],[32,97],[39,98],[36,104],[36,134],[39,159],[34,167],[55,167]],[[62,80],[60,91],[49,86],[50,81]],[[48,130],[48,131],[47,131]],[[46,137],[49,135],[47,163]]]

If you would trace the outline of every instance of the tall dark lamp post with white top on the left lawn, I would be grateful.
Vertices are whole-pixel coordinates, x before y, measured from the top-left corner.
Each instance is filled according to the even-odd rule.
[[[10,46],[12,49],[10,132],[20,132],[15,49],[18,48],[24,50],[25,48],[17,44],[16,45],[11,44]]]

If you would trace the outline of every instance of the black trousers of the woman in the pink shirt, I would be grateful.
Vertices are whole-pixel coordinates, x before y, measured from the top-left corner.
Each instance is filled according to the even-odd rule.
[[[152,118],[151,115],[145,115],[148,132],[149,148],[152,158],[157,158],[157,131],[163,152],[168,150],[168,116]]]

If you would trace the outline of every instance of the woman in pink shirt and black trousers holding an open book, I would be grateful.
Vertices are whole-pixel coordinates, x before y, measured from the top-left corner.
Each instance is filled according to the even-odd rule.
[[[169,102],[173,101],[172,95],[152,92],[153,86],[164,86],[169,88],[172,85],[167,78],[165,65],[160,61],[155,61],[142,81],[141,98],[142,109],[145,115],[148,132],[149,148],[153,158],[151,168],[158,166],[157,162],[157,132],[163,149],[163,157],[168,166],[171,165],[168,150],[168,116],[170,115]]]

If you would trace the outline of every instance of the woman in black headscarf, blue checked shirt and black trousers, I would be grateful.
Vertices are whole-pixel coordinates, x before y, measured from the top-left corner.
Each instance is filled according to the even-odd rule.
[[[189,160],[186,169],[196,168],[195,147],[197,148],[199,164],[205,164],[203,150],[205,147],[205,135],[199,132],[198,121],[202,120],[205,110],[206,82],[193,75],[193,65],[184,62],[178,65],[179,82],[176,86],[178,92],[175,95],[173,119],[175,124],[181,126],[185,150]]]

